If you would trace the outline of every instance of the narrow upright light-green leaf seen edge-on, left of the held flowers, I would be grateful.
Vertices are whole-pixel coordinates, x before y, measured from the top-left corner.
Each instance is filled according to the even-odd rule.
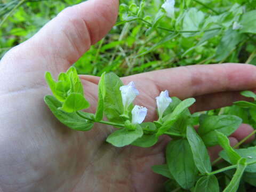
[[[101,121],[103,118],[103,111],[104,111],[104,101],[103,101],[103,95],[102,93],[104,92],[104,83],[105,83],[105,74],[103,73],[100,77],[100,82],[98,85],[98,107],[97,111],[95,113],[95,120],[96,121]]]

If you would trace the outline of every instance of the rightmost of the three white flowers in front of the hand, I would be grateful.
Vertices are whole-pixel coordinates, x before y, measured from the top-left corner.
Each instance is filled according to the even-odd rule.
[[[162,118],[164,111],[172,102],[172,99],[169,97],[169,93],[167,90],[162,91],[158,97],[156,97],[157,110],[159,114],[159,118]]]

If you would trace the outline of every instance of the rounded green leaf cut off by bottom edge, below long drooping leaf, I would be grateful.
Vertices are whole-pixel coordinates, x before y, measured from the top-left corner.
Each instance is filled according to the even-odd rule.
[[[195,192],[218,192],[220,191],[218,179],[215,175],[200,178],[196,183]]]

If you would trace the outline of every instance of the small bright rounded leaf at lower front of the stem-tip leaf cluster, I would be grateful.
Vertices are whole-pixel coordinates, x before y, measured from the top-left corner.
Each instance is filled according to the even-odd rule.
[[[60,108],[67,113],[73,113],[78,110],[86,109],[90,106],[89,102],[85,100],[80,93],[71,93]]]

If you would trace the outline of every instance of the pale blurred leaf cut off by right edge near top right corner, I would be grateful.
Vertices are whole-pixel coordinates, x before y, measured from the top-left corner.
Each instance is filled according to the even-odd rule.
[[[256,34],[256,10],[244,13],[241,18],[242,33]]]

